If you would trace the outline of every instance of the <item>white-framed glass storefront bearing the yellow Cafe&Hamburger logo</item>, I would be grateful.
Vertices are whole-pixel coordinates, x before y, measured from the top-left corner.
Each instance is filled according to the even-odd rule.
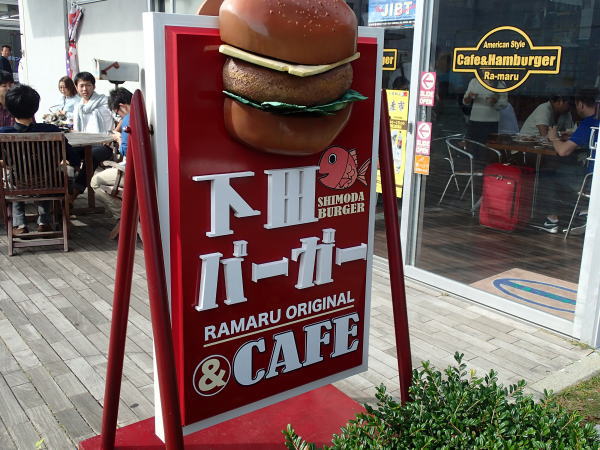
[[[591,196],[581,198],[572,223],[576,232],[567,238],[564,233],[582,180],[569,178],[562,168],[585,175],[593,172],[593,164],[585,160],[586,148],[568,158],[553,156],[551,141],[538,134],[538,124],[533,124],[533,132],[531,124],[525,126],[536,108],[557,98],[563,99],[563,111],[552,111],[550,120],[562,127],[564,140],[585,119],[578,116],[574,96],[600,84],[600,4],[595,0],[347,3],[359,25],[385,28],[382,86],[388,89],[407,276],[600,346],[600,276],[595,269],[600,266],[596,193],[600,186],[592,183],[593,175],[584,189]],[[194,13],[196,7],[197,2],[188,0],[164,4],[166,11],[175,13]],[[422,72],[436,77],[429,102],[419,101]],[[489,97],[486,101],[497,103],[490,108],[491,117],[484,114],[483,121],[477,120],[481,117],[472,110],[478,107],[465,104],[470,86],[477,87],[480,99]],[[424,145],[422,141],[417,145],[420,122],[431,123],[427,158],[417,154]],[[530,137],[521,135],[527,133],[524,127],[538,135],[528,141]],[[472,161],[475,175],[450,178],[453,172],[465,172],[469,158],[463,154],[453,160],[449,144],[465,146],[466,137],[489,147],[490,131],[513,136],[497,152],[466,149],[480,153],[479,164],[477,158]],[[521,139],[526,142],[519,146]],[[520,194],[524,203],[530,197],[531,205],[522,206],[526,220],[521,217],[510,231],[480,220],[482,201],[485,210],[495,205],[483,200],[486,177],[479,174],[496,157],[503,164],[528,167],[522,170],[534,191]],[[568,181],[570,191],[559,192],[562,203],[553,202],[556,190]],[[558,214],[555,230],[535,228],[552,213]],[[382,236],[384,228],[380,214],[377,229]],[[384,246],[378,249],[376,244],[375,252],[385,256]]]

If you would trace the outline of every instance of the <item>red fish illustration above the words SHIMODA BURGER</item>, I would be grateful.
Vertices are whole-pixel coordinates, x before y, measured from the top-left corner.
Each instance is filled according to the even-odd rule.
[[[321,183],[331,189],[347,189],[356,180],[367,185],[365,173],[371,160],[366,160],[358,168],[356,150],[346,150],[342,147],[330,147],[319,160],[319,175]]]

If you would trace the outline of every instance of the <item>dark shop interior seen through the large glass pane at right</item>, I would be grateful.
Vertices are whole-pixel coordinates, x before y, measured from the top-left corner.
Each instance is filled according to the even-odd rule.
[[[447,139],[464,139],[468,133],[470,111],[463,104],[463,96],[473,79],[472,73],[452,70],[452,57],[454,48],[475,46],[490,30],[507,25],[525,31],[535,45],[560,46],[559,73],[531,75],[525,83],[507,93],[516,120],[510,132],[517,136],[530,114],[557,95],[570,99],[568,113],[573,120],[572,132],[583,119],[577,114],[574,95],[581,89],[598,88],[599,84],[600,5],[586,0],[440,0],[436,2],[434,14],[430,67],[437,73],[437,96],[435,107],[427,109],[428,119],[433,123],[430,174],[415,177],[422,200],[416,208],[419,220],[412,241],[415,256],[411,263],[433,274],[573,320],[585,236],[582,225],[585,225],[588,200],[585,196],[581,198],[574,216],[572,227],[577,228],[577,232],[565,238],[579,185],[570,197],[564,196],[566,201],[552,206],[559,217],[557,230],[540,229],[554,195],[546,175],[554,176],[557,164],[564,161],[543,155],[536,167],[536,154],[504,149],[502,162],[530,167],[538,173],[533,213],[513,231],[481,225],[483,177],[474,177],[473,199],[467,186],[468,177],[457,177],[456,182],[449,182],[452,168]],[[389,45],[410,47],[410,44],[412,30],[386,30],[386,48]],[[404,63],[409,66],[411,49],[407,51]],[[404,73],[410,74],[410,71]],[[393,88],[393,80],[398,76],[397,72],[384,72],[384,86]],[[541,142],[542,137],[539,139],[540,148],[552,150],[551,143]],[[482,144],[489,144],[487,138]],[[460,164],[468,164],[468,160],[460,158],[454,162],[457,172]],[[578,163],[590,164],[581,156]],[[448,190],[442,200],[446,186]],[[375,252],[385,256],[382,220],[377,221],[376,232]],[[511,286],[507,288],[502,283]]]

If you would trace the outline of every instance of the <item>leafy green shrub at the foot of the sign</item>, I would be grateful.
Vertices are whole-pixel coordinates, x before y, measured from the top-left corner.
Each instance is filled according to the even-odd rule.
[[[544,392],[536,403],[523,393],[525,381],[504,388],[493,370],[483,378],[467,373],[462,354],[443,373],[428,362],[413,371],[412,401],[400,405],[377,389],[377,407],[365,405],[334,435],[334,449],[598,449],[591,424],[560,407]],[[288,425],[291,450],[317,447]]]

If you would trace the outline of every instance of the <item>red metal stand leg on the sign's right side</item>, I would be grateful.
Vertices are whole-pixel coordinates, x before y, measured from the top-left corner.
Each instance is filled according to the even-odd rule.
[[[400,224],[398,223],[398,204],[396,203],[396,180],[393,170],[394,157],[390,144],[387,105],[387,95],[385,90],[383,90],[381,94],[381,126],[379,130],[379,170],[381,172],[381,191],[387,236],[390,286],[392,289],[396,354],[398,357],[398,372],[400,374],[400,400],[404,403],[409,400],[408,388],[412,380],[412,362],[406,309],[406,289],[404,286],[402,244],[400,242]]]

